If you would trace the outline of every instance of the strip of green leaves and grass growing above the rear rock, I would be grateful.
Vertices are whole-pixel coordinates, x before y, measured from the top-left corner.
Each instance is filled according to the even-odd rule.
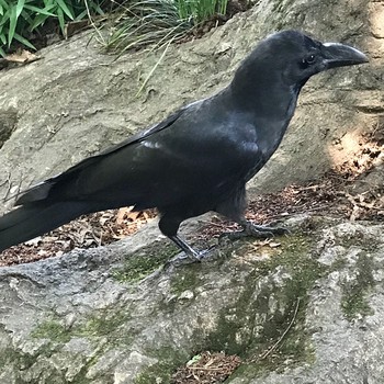
[[[31,49],[33,33],[53,23],[66,36],[66,23],[91,19],[110,9],[108,50],[124,53],[155,44],[162,47],[210,20],[223,18],[228,0],[0,0],[0,55],[15,41]],[[94,23],[91,22],[93,26]]]

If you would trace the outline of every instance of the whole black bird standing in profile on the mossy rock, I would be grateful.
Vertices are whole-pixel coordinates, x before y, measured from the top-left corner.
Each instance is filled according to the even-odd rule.
[[[246,183],[279,147],[305,82],[320,71],[366,63],[350,46],[283,31],[261,41],[215,95],[27,190],[0,217],[0,251],[97,211],[157,207],[159,228],[187,256],[180,224],[208,211],[259,237],[281,228],[244,217]]]

